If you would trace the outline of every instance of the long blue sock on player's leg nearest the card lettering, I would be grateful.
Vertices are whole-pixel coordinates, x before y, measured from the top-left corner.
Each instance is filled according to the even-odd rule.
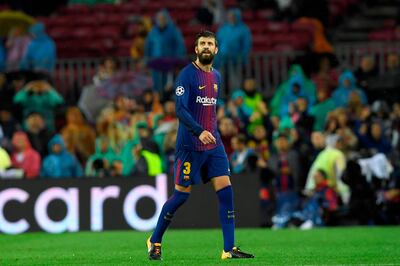
[[[161,243],[162,237],[174,217],[176,210],[189,198],[190,193],[174,191],[174,194],[164,203],[156,229],[151,236],[151,243]]]

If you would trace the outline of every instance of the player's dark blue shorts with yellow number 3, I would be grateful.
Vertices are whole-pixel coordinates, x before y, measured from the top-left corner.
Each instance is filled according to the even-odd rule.
[[[175,184],[190,185],[209,182],[218,176],[230,176],[229,161],[224,146],[208,151],[177,150],[174,163]]]

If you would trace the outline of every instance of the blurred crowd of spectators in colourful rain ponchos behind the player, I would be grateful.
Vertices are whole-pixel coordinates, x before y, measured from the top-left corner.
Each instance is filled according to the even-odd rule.
[[[218,20],[219,11],[209,18]],[[229,10],[227,18],[217,31],[217,67],[245,63],[251,52],[240,10]],[[138,23],[143,34],[133,42],[133,57],[158,67],[182,64],[165,59],[186,56],[166,10],[154,26]],[[54,69],[54,43],[40,23],[29,31],[30,37],[16,29],[0,56],[0,177],[172,175],[178,120],[170,69],[144,72],[135,94],[110,85],[128,74],[107,58],[79,102],[67,106],[47,75]],[[159,58],[164,61],[152,61]],[[271,88],[248,76],[218,101],[232,175],[260,180],[262,226],[400,223],[399,56],[390,54],[386,63],[381,75],[368,55],[354,72],[335,67],[329,56],[313,57],[316,71],[306,74],[293,64],[270,98],[261,92]]]

